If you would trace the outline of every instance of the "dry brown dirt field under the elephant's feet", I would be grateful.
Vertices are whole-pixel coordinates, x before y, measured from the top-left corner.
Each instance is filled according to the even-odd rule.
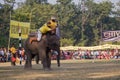
[[[120,80],[120,60],[61,60],[61,67],[52,61],[50,71],[41,64],[31,70],[23,65],[0,63],[0,80]]]

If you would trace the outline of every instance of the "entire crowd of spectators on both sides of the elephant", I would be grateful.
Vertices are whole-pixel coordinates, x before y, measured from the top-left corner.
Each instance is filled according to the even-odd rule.
[[[24,48],[16,49],[14,45],[9,50],[5,47],[0,47],[0,62],[11,62],[22,64],[25,60]],[[64,51],[61,50],[61,59],[119,59],[120,49],[107,49],[107,50],[81,50]],[[56,55],[52,55],[52,59],[56,59]]]

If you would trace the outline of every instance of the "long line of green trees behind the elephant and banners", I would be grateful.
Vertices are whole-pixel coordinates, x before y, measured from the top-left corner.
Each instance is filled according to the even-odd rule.
[[[110,1],[96,3],[94,0],[79,0],[77,4],[73,0],[56,0],[56,4],[48,0],[3,1],[0,3],[0,46],[8,46],[11,19],[30,22],[31,29],[38,29],[51,16],[56,16],[61,46],[104,44],[102,31],[120,30],[120,1],[116,4]],[[16,9],[15,4],[18,5]],[[11,39],[10,44],[15,43],[17,46],[18,42],[18,39]]]

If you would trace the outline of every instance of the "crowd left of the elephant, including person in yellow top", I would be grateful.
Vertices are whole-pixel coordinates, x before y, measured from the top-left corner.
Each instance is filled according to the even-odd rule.
[[[24,48],[16,49],[14,45],[7,49],[0,47],[0,62],[11,62],[15,66],[16,63],[22,64],[25,60]]]

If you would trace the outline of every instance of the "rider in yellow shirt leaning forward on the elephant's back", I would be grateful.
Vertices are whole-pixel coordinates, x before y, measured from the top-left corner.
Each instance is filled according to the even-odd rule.
[[[45,34],[48,31],[55,31],[56,28],[57,28],[56,18],[51,17],[49,22],[45,23],[42,27],[39,28],[37,38],[36,37],[30,38],[30,43],[32,43],[32,41],[40,41],[42,34]]]

